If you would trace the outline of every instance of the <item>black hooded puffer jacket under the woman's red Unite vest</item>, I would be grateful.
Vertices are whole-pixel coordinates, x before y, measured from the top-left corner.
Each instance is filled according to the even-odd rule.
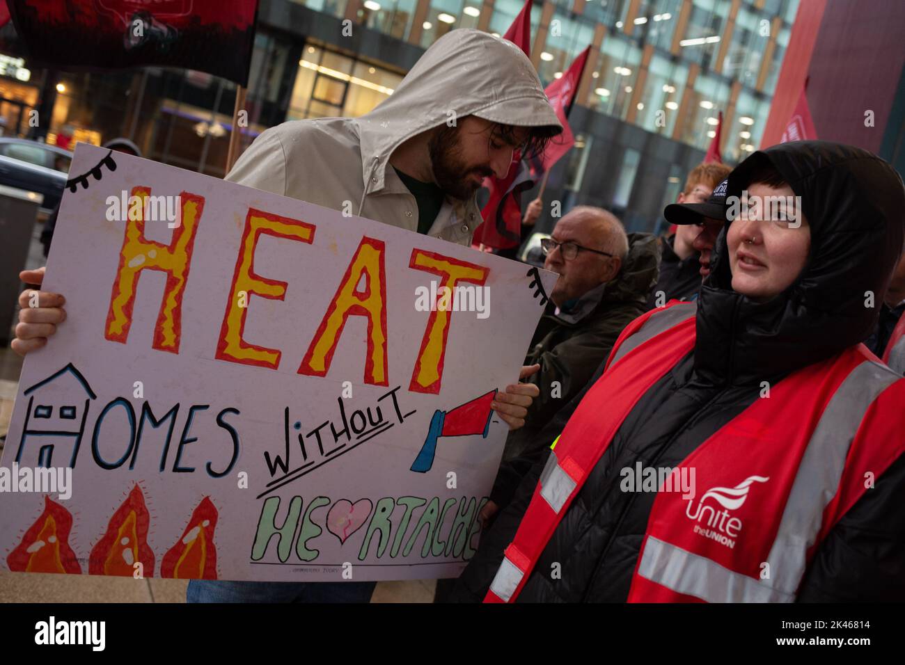
[[[632,583],[653,492],[623,492],[619,470],[676,467],[759,394],[803,366],[835,356],[874,328],[898,261],[905,188],[878,157],[823,141],[757,152],[729,176],[738,195],[751,169],[772,162],[802,197],[811,228],[804,271],[783,294],[755,303],[731,290],[726,232],[698,299],[694,350],[635,404],[568,508],[519,602],[622,602]],[[905,437],[905,412],[901,419]],[[549,437],[550,431],[541,432]],[[529,470],[463,571],[452,601],[480,601],[515,535],[548,456]],[[799,601],[905,600],[905,456],[894,461],[830,531],[799,587]],[[551,565],[561,576],[551,579]]]

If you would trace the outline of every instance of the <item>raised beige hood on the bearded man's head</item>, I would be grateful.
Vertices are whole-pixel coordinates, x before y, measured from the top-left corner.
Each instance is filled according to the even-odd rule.
[[[562,131],[534,66],[518,46],[480,30],[452,30],[424,52],[392,95],[356,119],[366,192],[384,187],[389,157],[406,139],[470,115],[548,127],[551,135]]]

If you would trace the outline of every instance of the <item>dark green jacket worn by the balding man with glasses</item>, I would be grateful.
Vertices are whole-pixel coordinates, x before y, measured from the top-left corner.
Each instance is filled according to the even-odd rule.
[[[646,311],[659,272],[657,241],[650,233],[629,233],[628,239],[628,255],[614,280],[588,291],[568,313],[557,316],[550,303],[540,318],[525,357],[525,365],[540,364],[538,374],[529,378],[540,396],[531,404],[525,426],[510,432],[503,461],[527,452],[534,434],[585,387],[623,328]]]

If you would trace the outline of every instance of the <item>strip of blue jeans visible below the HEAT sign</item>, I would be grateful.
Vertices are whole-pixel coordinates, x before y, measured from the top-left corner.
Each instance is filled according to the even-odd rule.
[[[186,603],[368,603],[376,584],[189,580]]]

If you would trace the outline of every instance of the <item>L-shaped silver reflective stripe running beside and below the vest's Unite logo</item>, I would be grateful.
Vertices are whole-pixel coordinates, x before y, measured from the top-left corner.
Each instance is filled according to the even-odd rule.
[[[864,413],[877,395],[900,378],[889,367],[866,360],[839,385],[807,443],[792,483],[767,556],[768,579],[740,575],[653,537],[644,546],[639,575],[710,603],[794,600],[805,575],[807,550],[820,532],[824,508],[839,488],[845,458]]]

